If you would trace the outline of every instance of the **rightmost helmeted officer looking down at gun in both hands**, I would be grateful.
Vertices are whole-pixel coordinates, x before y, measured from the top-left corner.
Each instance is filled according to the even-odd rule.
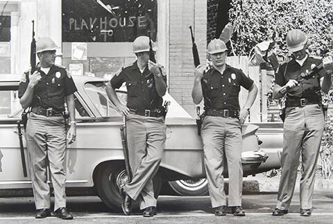
[[[286,41],[292,59],[280,65],[273,88],[274,98],[282,98],[287,94],[281,155],[282,173],[278,203],[273,216],[288,213],[296,184],[300,155],[302,155],[300,215],[311,216],[316,164],[324,129],[321,90],[325,93],[330,90],[333,63],[331,57],[324,58],[323,70],[316,76],[298,83],[296,79],[299,76],[305,76],[322,61],[307,54],[307,36],[302,31],[298,29],[289,31]]]

